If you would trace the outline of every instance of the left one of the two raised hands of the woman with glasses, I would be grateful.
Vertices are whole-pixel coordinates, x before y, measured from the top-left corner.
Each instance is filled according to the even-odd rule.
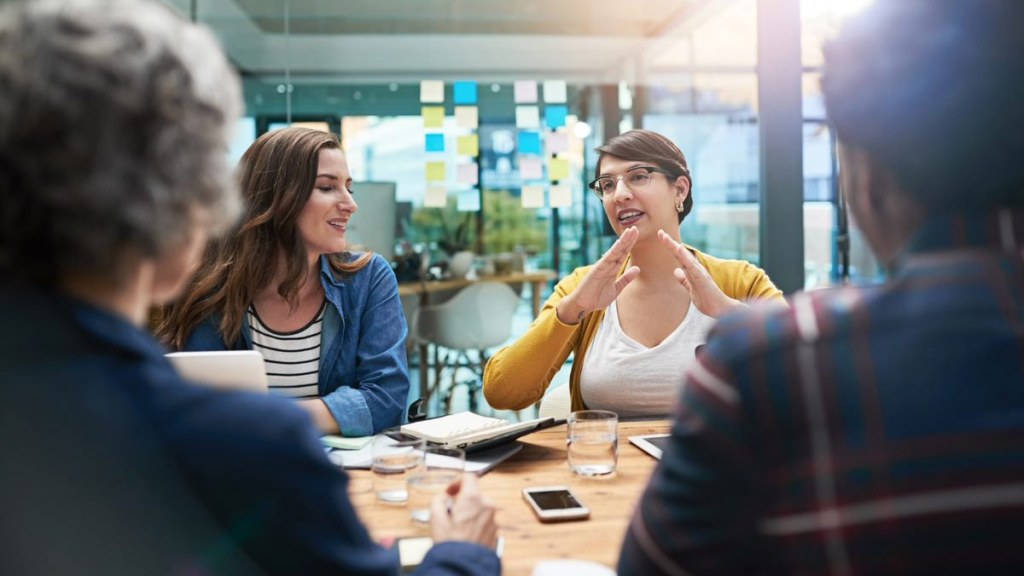
[[[622,276],[618,276],[618,271],[622,270],[639,237],[640,232],[636,227],[630,227],[623,232],[618,240],[580,282],[580,286],[558,302],[555,313],[559,320],[565,324],[578,324],[591,312],[607,307],[623,288],[633,282],[633,279],[640,274],[639,268],[630,266]]]

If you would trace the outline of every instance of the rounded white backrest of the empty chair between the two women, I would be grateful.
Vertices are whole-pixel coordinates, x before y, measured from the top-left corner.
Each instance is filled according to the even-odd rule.
[[[484,349],[509,338],[519,296],[501,282],[476,282],[416,312],[414,336],[447,348]]]

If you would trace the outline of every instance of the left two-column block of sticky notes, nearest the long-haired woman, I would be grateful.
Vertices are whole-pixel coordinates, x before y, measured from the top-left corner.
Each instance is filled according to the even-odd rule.
[[[445,85],[441,80],[420,82],[420,104],[422,106],[424,153],[426,154],[425,177],[427,181],[423,205],[443,208],[447,204],[450,184],[456,193],[458,209],[478,211],[480,209],[480,136],[479,109],[477,108],[478,85],[474,81],[453,82],[452,104],[454,126],[445,125]],[[453,154],[454,166],[447,159]]]

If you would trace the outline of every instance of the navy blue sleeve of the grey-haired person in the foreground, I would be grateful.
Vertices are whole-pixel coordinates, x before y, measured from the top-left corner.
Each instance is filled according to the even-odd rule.
[[[285,399],[197,395],[172,418],[178,460],[227,537],[270,574],[398,573],[307,416]]]

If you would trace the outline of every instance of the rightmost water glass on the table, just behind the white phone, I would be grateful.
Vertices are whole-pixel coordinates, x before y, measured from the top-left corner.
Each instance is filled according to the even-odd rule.
[[[579,410],[568,417],[569,468],[579,476],[615,471],[618,462],[618,415],[607,410]]]

